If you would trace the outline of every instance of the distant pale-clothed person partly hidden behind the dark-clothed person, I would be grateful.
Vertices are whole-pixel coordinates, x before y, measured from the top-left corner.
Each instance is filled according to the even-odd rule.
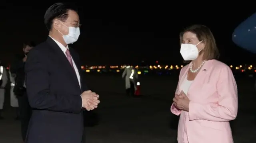
[[[15,108],[16,111],[16,117],[15,119],[18,120],[20,119],[20,111],[19,111],[19,103],[18,103],[18,99],[17,96],[14,94],[14,86],[15,86],[15,77],[16,74],[12,74],[9,71],[9,76],[10,76],[10,82],[11,82],[11,88],[10,88],[10,105],[11,107]]]

